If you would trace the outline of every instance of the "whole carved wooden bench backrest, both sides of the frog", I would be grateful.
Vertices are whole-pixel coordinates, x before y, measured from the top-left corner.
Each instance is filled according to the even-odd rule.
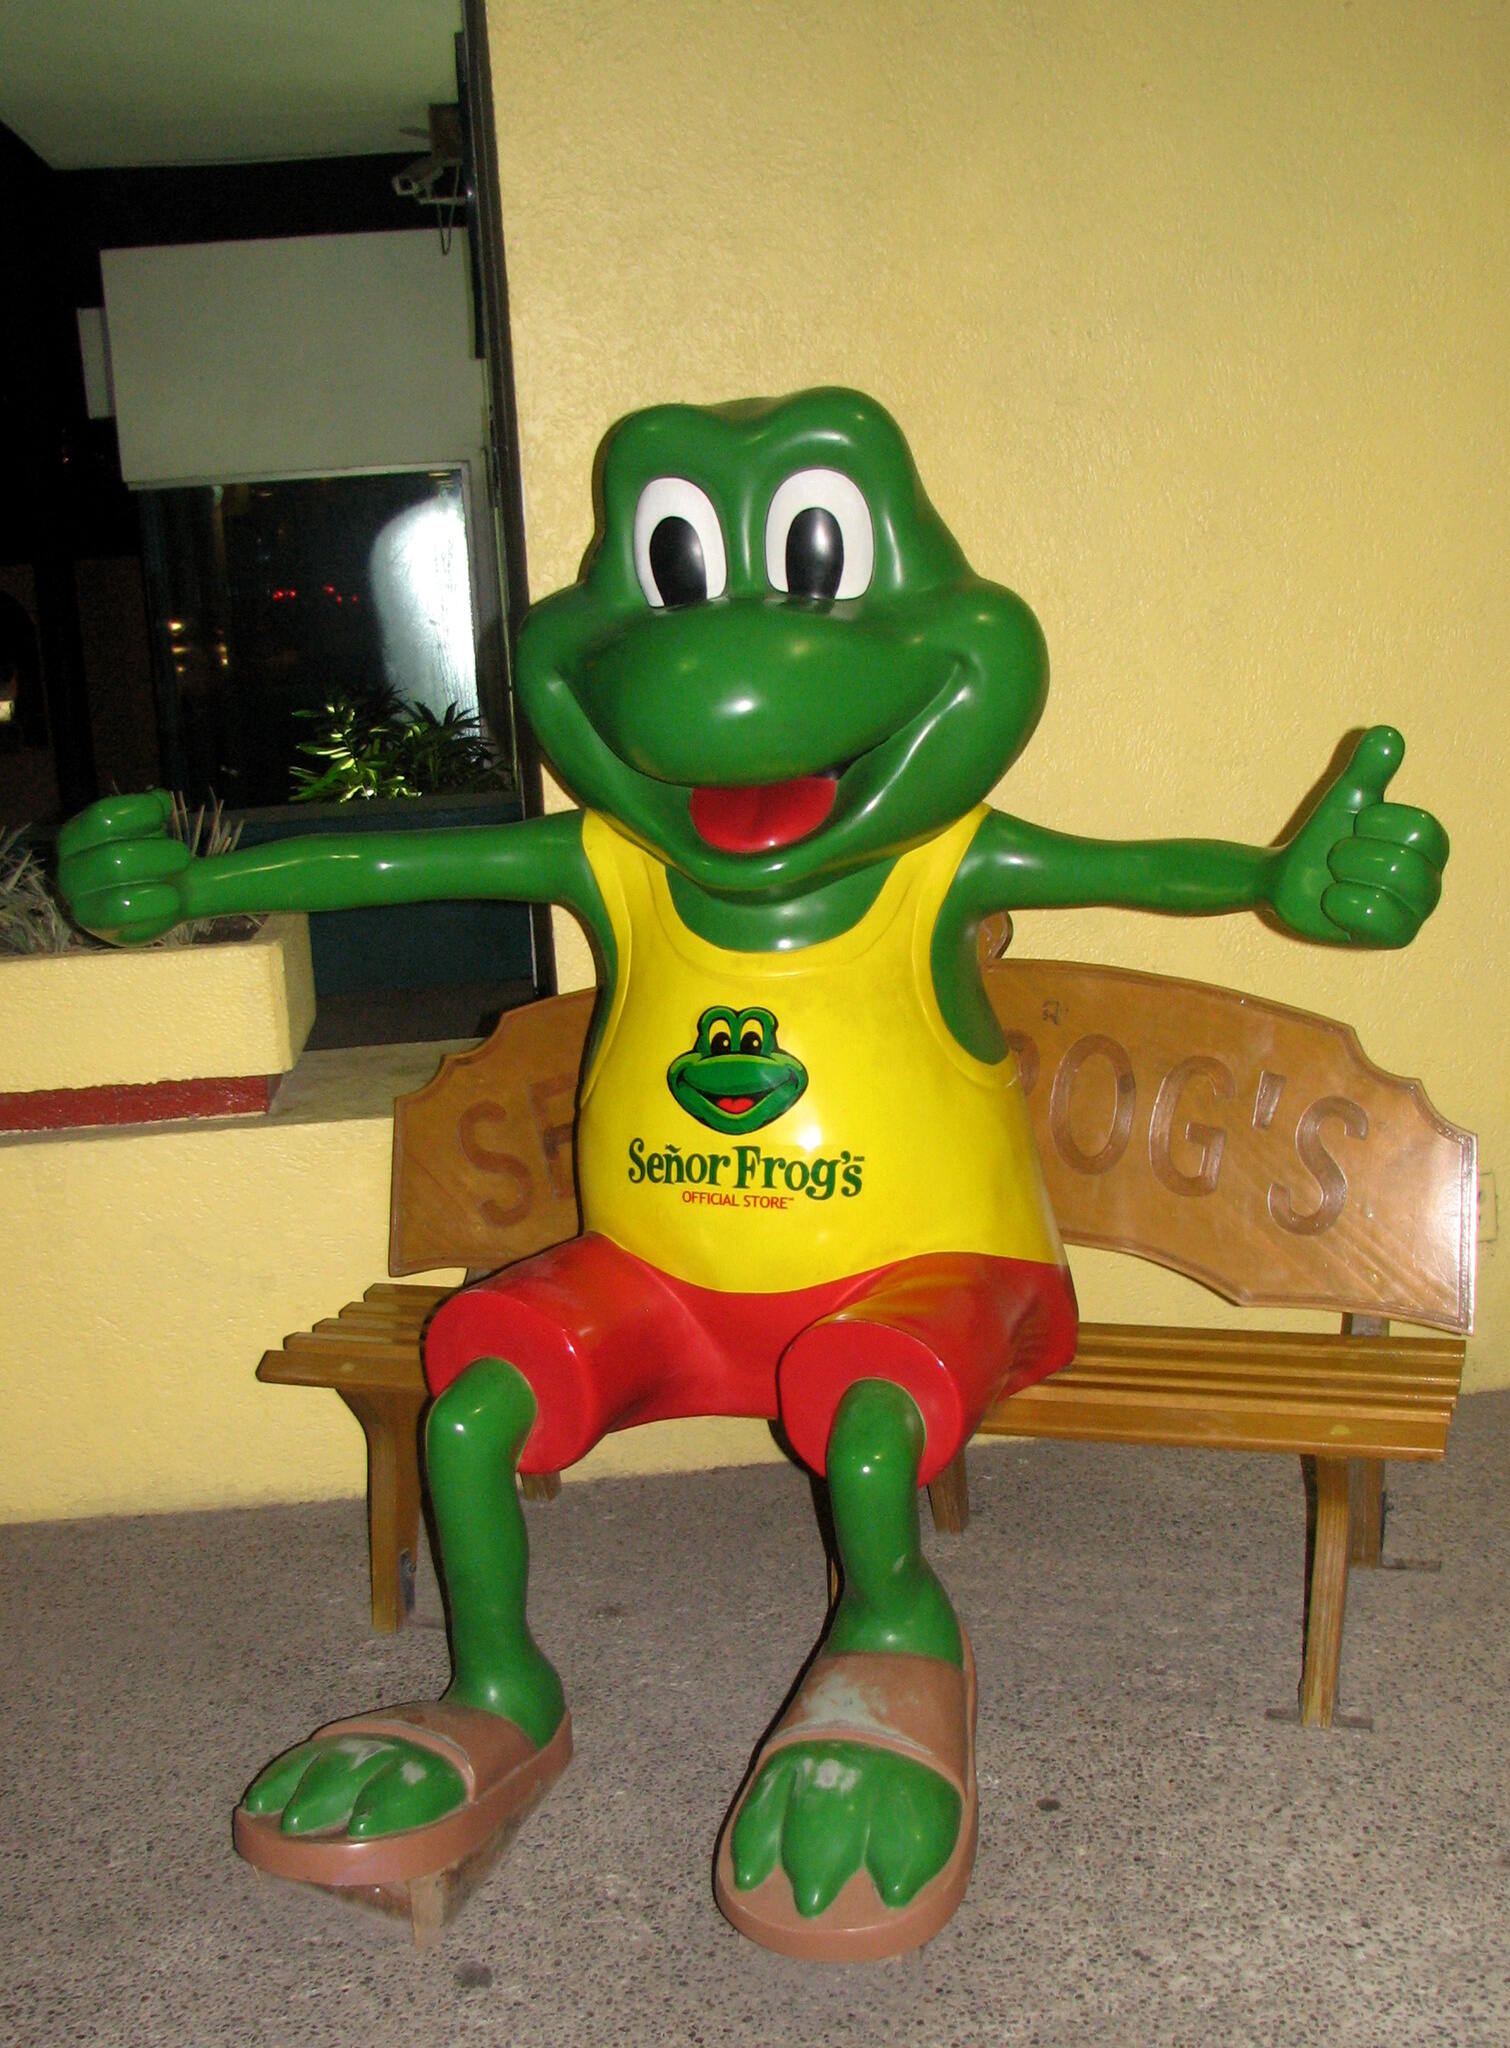
[[[1352,1030],[1192,981],[994,961],[1067,1243],[1229,1300],[1473,1323],[1475,1143]],[[572,1237],[592,993],[508,1012],[393,1118],[389,1270],[490,1270]]]

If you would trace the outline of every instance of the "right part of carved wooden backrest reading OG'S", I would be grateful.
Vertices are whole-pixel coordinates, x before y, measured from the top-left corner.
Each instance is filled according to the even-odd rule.
[[[1229,1300],[1471,1327],[1473,1139],[1344,1024],[1063,961],[985,987],[1065,1239]]]

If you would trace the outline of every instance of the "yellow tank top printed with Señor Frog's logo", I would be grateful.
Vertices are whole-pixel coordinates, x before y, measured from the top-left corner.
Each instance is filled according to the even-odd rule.
[[[904,854],[867,915],[733,952],[596,813],[619,977],[582,1087],[582,1221],[662,1272],[779,1294],[924,1251],[1061,1264],[1016,1061],[949,1032],[930,942],[981,811]]]

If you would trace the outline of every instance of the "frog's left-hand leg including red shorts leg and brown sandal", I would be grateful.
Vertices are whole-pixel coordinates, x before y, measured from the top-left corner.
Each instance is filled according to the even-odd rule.
[[[451,1868],[572,1753],[525,1622],[516,1470],[561,1470],[652,1399],[684,1317],[658,1274],[576,1237],[453,1294],[426,1333],[430,1497],[451,1608],[443,1700],[332,1722],[277,1757],[236,1819],[277,1876],[369,1884]],[[504,1364],[504,1360],[512,1360]],[[404,1866],[400,1870],[400,1866]]]

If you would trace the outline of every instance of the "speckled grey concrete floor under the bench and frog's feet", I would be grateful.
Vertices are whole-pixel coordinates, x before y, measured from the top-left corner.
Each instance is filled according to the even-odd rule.
[[[822,1618],[787,1468],[531,1507],[578,1759],[443,1944],[260,1882],[248,1776],[334,1712],[434,1694],[365,1626],[354,1503],[0,1530],[0,2042],[1510,2042],[1510,1395],[1393,1466],[1344,1704],[1293,1700],[1289,1460],[971,1452],[932,1540],[981,1667],[981,1847],[922,1954],[822,1970],[719,1919],[711,1853]]]

